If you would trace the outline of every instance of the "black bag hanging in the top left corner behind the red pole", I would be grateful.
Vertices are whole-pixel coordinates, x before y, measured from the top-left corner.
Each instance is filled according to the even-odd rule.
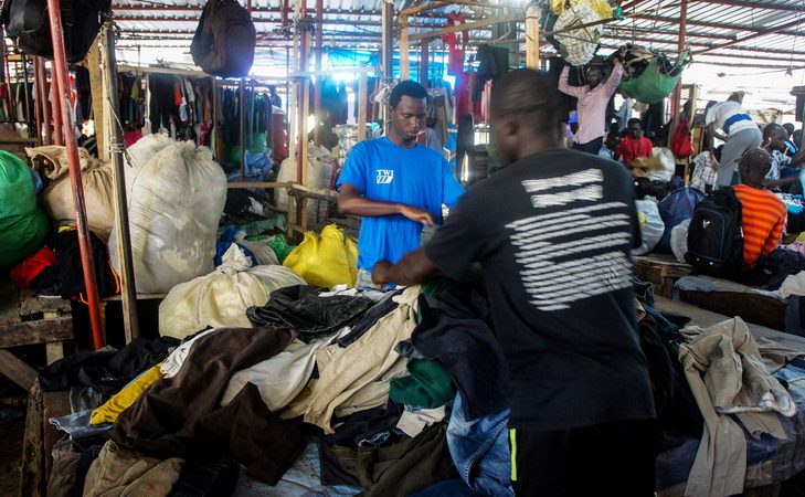
[[[100,31],[102,12],[112,0],[62,0],[62,29],[67,62],[81,62]],[[47,0],[4,0],[0,22],[6,35],[29,55],[53,59]]]

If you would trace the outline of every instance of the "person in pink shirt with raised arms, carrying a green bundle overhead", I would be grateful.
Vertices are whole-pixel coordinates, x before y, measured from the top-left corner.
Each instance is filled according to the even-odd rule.
[[[606,106],[610,98],[621,84],[623,75],[623,57],[625,49],[622,49],[615,57],[615,65],[612,68],[606,83],[602,83],[604,71],[600,65],[591,65],[585,73],[586,86],[571,86],[568,83],[570,66],[565,65],[559,76],[559,91],[579,98],[576,109],[579,112],[579,130],[573,136],[573,148],[587,154],[597,155],[604,144],[606,135]]]

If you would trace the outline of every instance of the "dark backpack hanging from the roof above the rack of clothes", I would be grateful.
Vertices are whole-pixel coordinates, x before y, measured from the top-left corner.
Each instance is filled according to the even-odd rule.
[[[190,54],[206,74],[243,77],[252,70],[256,41],[252,17],[237,0],[208,0]]]

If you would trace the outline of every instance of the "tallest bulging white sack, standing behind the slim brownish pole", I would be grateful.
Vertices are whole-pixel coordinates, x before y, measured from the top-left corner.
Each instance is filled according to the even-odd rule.
[[[138,159],[131,160],[135,168],[127,168],[126,175],[140,293],[165,293],[214,269],[215,231],[226,200],[226,176],[210,149],[192,141],[162,145],[160,138],[147,141],[144,148],[159,151],[145,165],[136,163],[147,158],[138,151]],[[114,229],[109,256],[120,274]]]

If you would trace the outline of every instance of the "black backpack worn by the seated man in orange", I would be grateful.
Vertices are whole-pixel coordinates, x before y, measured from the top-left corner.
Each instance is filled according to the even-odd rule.
[[[685,260],[700,274],[734,276],[743,267],[741,201],[731,188],[707,195],[693,210]]]

